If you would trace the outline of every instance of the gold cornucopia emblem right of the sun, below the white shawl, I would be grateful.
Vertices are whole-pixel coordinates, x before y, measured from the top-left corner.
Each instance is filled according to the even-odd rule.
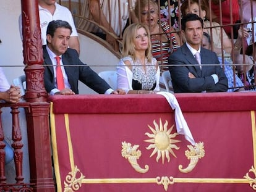
[[[188,145],[187,147],[189,150],[185,151],[185,155],[187,159],[190,159],[190,163],[185,169],[182,169],[182,165],[179,165],[179,171],[182,173],[191,172],[197,165],[198,160],[205,156],[203,142],[195,143],[195,146]]]

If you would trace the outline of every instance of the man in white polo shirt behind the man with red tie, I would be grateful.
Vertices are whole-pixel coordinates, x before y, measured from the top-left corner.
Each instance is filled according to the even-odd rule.
[[[72,34],[70,35],[69,47],[77,50],[80,54],[80,44],[75,28],[75,23],[72,17],[72,14],[67,7],[59,5],[56,0],[38,0],[38,9],[39,9],[39,18],[40,18],[40,27],[41,27],[41,39],[42,44],[46,44],[46,29],[48,23],[52,20],[66,20],[72,27]],[[21,15],[19,18],[20,26],[20,36],[22,36],[22,20]]]

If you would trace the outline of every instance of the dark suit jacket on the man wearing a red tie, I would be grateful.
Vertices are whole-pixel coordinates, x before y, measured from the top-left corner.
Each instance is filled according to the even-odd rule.
[[[46,46],[43,46],[43,57],[45,59],[45,89],[49,93],[51,90],[56,88],[54,86],[54,72],[53,64],[49,58],[49,54],[46,50]],[[67,51],[62,54],[62,62],[64,65],[65,72],[67,73],[67,78],[69,80],[70,88],[75,94],[79,94],[78,81],[82,81],[85,85],[90,87],[97,93],[103,94],[106,90],[111,88],[105,80],[100,78],[96,72],[94,72],[90,67],[83,64],[79,59],[79,54],[75,49],[67,49]],[[49,66],[46,66],[49,65]],[[79,65],[79,66],[67,66],[67,65]]]

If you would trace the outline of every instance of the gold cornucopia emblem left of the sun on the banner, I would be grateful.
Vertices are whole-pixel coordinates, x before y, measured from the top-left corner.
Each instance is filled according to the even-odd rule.
[[[140,152],[140,150],[138,150],[139,145],[135,144],[134,146],[132,146],[132,144],[130,143],[126,143],[126,141],[122,142],[122,157],[128,159],[130,165],[132,165],[132,167],[139,173],[146,173],[148,172],[148,165],[145,165],[145,169],[142,169],[142,167],[140,167],[140,165],[137,163],[137,159],[140,158],[140,156],[142,155],[142,153]]]

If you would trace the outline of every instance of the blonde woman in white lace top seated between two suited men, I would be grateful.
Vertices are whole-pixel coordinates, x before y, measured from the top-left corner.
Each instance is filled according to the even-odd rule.
[[[160,69],[151,55],[150,31],[143,23],[129,25],[124,31],[122,59],[117,66],[117,86],[126,93],[159,91]]]

